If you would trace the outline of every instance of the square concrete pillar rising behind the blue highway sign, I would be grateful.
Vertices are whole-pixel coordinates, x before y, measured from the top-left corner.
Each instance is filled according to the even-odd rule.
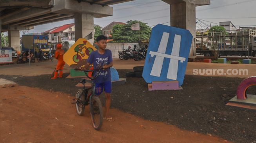
[[[193,36],[189,56],[196,56],[196,4],[191,2],[182,2],[171,4],[171,26],[187,29]]]

